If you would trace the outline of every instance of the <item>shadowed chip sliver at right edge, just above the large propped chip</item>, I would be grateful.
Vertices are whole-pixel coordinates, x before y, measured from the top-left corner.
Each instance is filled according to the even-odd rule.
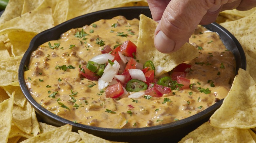
[[[248,71],[251,75],[251,77],[256,82],[256,59],[249,56],[247,53],[245,53],[246,56],[246,71]]]

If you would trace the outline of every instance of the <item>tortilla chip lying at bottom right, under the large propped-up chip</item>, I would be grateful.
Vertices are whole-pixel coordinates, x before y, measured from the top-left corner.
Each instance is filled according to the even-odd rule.
[[[183,137],[179,143],[192,138],[194,142],[254,142],[247,129],[221,129],[211,126],[208,122],[203,123],[196,130]]]

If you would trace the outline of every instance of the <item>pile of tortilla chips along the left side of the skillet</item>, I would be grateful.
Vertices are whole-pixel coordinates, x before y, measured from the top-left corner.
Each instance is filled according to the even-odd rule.
[[[18,67],[31,39],[76,16],[124,6],[147,6],[146,0],[9,0],[0,17],[0,142],[109,142],[72,126],[38,122],[18,83]]]

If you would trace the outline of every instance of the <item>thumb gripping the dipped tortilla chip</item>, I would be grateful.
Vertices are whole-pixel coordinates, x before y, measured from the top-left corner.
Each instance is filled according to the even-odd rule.
[[[156,28],[155,47],[162,53],[177,51],[189,40],[204,15],[217,18],[220,7],[205,0],[171,0]],[[213,22],[212,18],[209,20]]]

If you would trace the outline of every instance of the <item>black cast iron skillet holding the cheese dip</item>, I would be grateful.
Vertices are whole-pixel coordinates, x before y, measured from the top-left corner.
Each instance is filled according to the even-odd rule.
[[[92,24],[100,19],[111,19],[118,15],[123,15],[127,19],[138,18],[140,14],[144,14],[148,17],[151,16],[151,12],[148,7],[126,7],[126,8],[113,8],[102,11],[97,11],[82,15],[71,19],[67,22],[59,24],[49,30],[43,31],[36,35],[24,54],[20,66],[19,66],[19,83],[20,87],[27,98],[28,102],[31,103],[32,107],[35,108],[37,114],[42,118],[42,121],[52,124],[55,126],[61,126],[64,124],[73,125],[73,131],[83,130],[89,134],[93,134],[104,139],[122,142],[177,142],[182,137],[187,135],[189,132],[196,129],[203,122],[206,122],[209,117],[221,106],[223,100],[215,103],[209,108],[203,110],[202,112],[191,116],[186,119],[181,119],[168,124],[145,127],[145,128],[135,128],[135,129],[109,129],[100,128],[82,124],[76,124],[72,121],[60,118],[59,116],[51,113],[50,111],[39,105],[30,95],[24,80],[24,70],[25,65],[28,66],[30,61],[30,56],[32,51],[36,48],[50,40],[59,39],[60,35],[71,28],[82,27],[86,24]],[[219,24],[213,23],[205,25],[205,27],[211,31],[215,31],[220,35],[221,40],[223,40],[224,45],[228,50],[232,51],[236,58],[236,72],[239,68],[246,68],[246,59],[244,51],[238,42],[238,40],[224,29]]]

